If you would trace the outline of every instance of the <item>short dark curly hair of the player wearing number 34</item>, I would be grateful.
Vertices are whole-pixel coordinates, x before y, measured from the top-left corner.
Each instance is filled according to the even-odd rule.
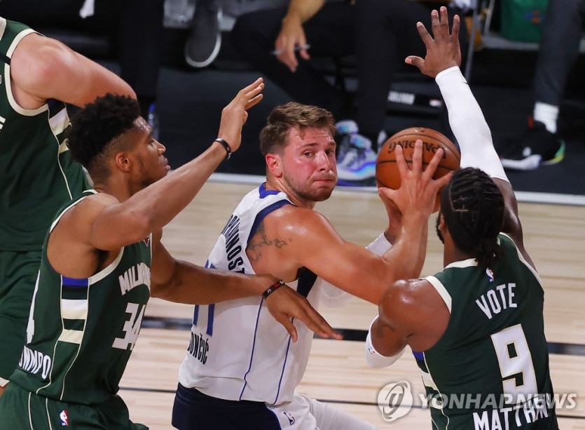
[[[135,126],[139,116],[138,102],[128,95],[107,93],[98,97],[71,116],[71,127],[67,130],[71,156],[92,177],[108,175],[108,149],[117,137]]]

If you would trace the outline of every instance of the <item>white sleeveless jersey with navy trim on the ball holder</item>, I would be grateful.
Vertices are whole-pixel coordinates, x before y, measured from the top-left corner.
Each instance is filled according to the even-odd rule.
[[[250,238],[264,217],[292,204],[282,192],[264,185],[249,192],[235,208],[207,260],[207,267],[254,274],[246,255]],[[316,276],[305,271],[288,283],[318,305]],[[267,285],[268,287],[268,285]],[[307,365],[312,332],[294,321],[297,342],[278,323],[262,297],[195,306],[191,342],[179,370],[179,382],[208,396],[269,404],[291,401]]]

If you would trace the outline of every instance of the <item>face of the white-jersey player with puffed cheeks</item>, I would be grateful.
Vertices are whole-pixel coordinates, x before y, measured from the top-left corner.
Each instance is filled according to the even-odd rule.
[[[327,128],[289,130],[282,155],[283,177],[289,192],[305,201],[329,199],[337,183],[336,143]]]

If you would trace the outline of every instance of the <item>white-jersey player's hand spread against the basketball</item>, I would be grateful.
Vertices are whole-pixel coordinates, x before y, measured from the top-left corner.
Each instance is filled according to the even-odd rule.
[[[443,149],[437,149],[426,170],[422,170],[422,140],[415,142],[412,168],[408,168],[400,145],[396,149],[396,164],[400,173],[399,189],[379,188],[378,193],[392,200],[403,217],[409,213],[430,216],[434,210],[436,194],[449,182],[452,173],[434,180],[433,175],[443,157]]]

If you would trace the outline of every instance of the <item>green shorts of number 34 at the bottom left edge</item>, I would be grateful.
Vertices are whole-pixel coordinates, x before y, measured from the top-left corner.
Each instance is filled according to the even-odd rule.
[[[0,430],[148,430],[130,421],[120,396],[97,405],[64,403],[32,394],[12,382],[0,397]]]

